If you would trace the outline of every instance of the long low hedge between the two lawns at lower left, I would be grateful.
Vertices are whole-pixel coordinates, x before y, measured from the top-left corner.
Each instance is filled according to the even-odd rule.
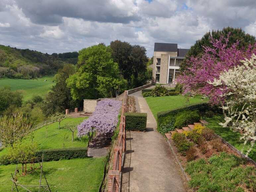
[[[35,156],[43,161],[69,160],[87,158],[87,148],[48,149],[37,151]],[[10,161],[7,155],[0,157],[0,165],[16,164],[18,161]]]

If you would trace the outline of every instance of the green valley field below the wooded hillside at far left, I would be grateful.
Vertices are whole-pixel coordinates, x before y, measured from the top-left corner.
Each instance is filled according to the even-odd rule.
[[[47,81],[44,81],[44,80]],[[11,87],[12,91],[21,91],[24,100],[29,100],[34,95],[45,97],[46,93],[55,84],[52,82],[53,76],[46,76],[35,80],[25,79],[0,79],[0,87]]]

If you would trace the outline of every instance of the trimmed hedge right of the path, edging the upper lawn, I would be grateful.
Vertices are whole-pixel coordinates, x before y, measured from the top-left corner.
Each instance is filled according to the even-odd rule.
[[[194,111],[198,110],[200,113],[205,113],[207,110],[211,110],[211,106],[208,103],[200,103],[188,105],[185,107],[179,107],[172,110],[161,111],[157,113],[157,129],[164,135],[169,131],[174,130],[174,123],[176,121],[177,115],[182,111]]]

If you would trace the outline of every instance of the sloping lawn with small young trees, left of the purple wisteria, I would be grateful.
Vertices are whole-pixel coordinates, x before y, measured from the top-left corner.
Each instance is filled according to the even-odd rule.
[[[64,135],[68,136],[68,138],[65,140],[65,148],[73,148],[73,147],[87,147],[88,144],[88,138],[83,137],[81,140],[77,138],[77,130],[74,133],[74,142],[72,142],[72,132],[68,129],[65,129],[65,126],[68,124],[78,125],[83,120],[85,120],[88,117],[78,117],[78,118],[65,118],[63,121],[61,121],[60,129],[58,129],[58,122],[52,123],[48,125],[47,130],[47,138],[46,138],[46,129],[45,126],[37,129],[34,131],[34,138],[33,141],[35,141],[40,149],[59,149],[63,148],[63,140]],[[25,140],[26,142],[30,142],[31,139],[28,138]],[[8,148],[3,149],[0,152],[0,156],[6,154],[8,151]]]

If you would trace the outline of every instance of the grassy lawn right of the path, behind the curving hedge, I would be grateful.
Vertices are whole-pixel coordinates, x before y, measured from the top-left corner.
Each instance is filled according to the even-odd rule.
[[[189,102],[187,102],[187,98],[185,96],[160,96],[160,97],[145,97],[150,110],[152,111],[154,117],[157,117],[157,113],[160,111],[166,111],[170,109],[175,109],[177,107],[184,106],[186,104],[195,104],[195,103],[203,103],[205,100],[201,100],[199,98],[189,98]]]

